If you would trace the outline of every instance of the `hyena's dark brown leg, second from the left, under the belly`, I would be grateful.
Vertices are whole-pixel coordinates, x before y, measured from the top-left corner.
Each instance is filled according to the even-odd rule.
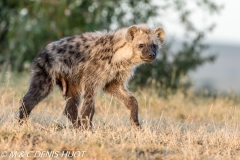
[[[67,100],[64,115],[66,115],[66,117],[72,122],[74,128],[79,128],[81,126],[80,118],[78,117],[78,106],[80,103],[80,87],[68,82],[67,91],[63,92],[66,92]]]

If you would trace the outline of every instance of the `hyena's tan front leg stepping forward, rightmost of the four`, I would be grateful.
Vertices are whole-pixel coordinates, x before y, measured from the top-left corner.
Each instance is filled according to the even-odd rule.
[[[138,103],[134,96],[124,87],[123,84],[114,80],[108,83],[104,91],[110,93],[118,100],[122,101],[123,104],[130,110],[130,122],[133,127],[140,128],[138,121]]]

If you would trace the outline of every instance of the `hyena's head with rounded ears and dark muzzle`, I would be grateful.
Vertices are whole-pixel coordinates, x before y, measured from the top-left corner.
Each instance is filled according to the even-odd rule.
[[[144,62],[151,62],[165,41],[165,32],[162,28],[153,31],[146,25],[133,25],[127,29],[125,39],[131,45],[134,54]]]

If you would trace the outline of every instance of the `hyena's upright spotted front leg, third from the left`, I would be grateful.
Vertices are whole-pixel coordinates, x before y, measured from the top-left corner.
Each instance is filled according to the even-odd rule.
[[[95,91],[93,85],[85,85],[82,93],[82,104],[80,114],[83,129],[92,127],[92,119],[95,113]]]

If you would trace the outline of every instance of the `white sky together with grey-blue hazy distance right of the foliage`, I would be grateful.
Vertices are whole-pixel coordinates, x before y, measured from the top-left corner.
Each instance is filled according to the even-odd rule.
[[[190,2],[190,1],[189,1]],[[220,14],[209,16],[203,10],[199,10],[191,4],[188,6],[194,11],[191,20],[199,28],[207,27],[215,22],[213,32],[206,37],[206,43],[210,45],[210,51],[217,53],[217,60],[211,64],[204,64],[190,74],[196,88],[213,88],[217,91],[233,90],[240,93],[240,1],[215,0],[224,8]],[[183,32],[176,25],[178,16],[174,13],[166,13],[163,19],[167,34],[175,35],[181,39]],[[165,29],[164,28],[164,29]],[[209,53],[204,53],[205,55]]]

